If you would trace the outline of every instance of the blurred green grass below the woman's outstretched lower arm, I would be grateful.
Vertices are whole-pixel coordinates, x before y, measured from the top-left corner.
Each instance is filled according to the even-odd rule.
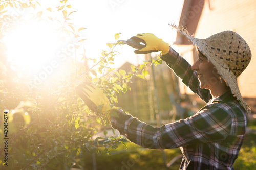
[[[97,169],[167,169],[163,162],[162,150],[145,149],[131,142],[126,142],[126,150],[122,145],[118,150],[111,150],[110,155],[106,155],[103,150],[95,155]],[[164,150],[167,163],[175,156],[181,154],[179,148]],[[93,169],[92,157],[88,157],[87,169]],[[179,169],[181,159],[178,159],[169,169]]]

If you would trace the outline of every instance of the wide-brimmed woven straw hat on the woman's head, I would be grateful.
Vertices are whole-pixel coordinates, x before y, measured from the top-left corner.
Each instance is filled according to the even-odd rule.
[[[243,100],[238,88],[237,77],[245,70],[251,60],[251,51],[245,40],[233,31],[223,31],[206,39],[190,36],[186,29],[171,25],[185,35],[207,59],[214,64],[218,74],[230,87],[247,113],[249,106]]]

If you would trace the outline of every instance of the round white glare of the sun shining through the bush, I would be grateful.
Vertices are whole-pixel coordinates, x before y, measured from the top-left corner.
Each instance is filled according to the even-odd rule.
[[[58,32],[43,22],[15,27],[4,37],[7,60],[19,70],[37,71],[55,55]]]

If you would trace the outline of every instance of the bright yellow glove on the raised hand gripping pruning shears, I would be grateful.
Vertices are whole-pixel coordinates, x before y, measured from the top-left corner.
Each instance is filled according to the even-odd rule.
[[[165,55],[169,51],[169,44],[156,37],[152,33],[137,34],[136,36],[131,37],[130,40],[137,41],[139,43],[142,42],[145,44],[144,48],[134,51],[137,54],[147,54],[161,51],[162,55]]]

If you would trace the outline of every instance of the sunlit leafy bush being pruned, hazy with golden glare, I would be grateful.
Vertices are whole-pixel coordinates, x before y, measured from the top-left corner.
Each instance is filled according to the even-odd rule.
[[[84,169],[84,157],[98,153],[99,148],[104,148],[108,154],[109,148],[116,149],[118,143],[124,144],[121,136],[106,140],[104,136],[93,139],[99,131],[104,131],[106,135],[106,129],[110,128],[109,120],[91,112],[76,95],[75,87],[83,81],[92,82],[102,89],[111,102],[117,103],[117,94],[130,89],[133,76],[145,79],[147,66],[161,64],[160,59],[145,61],[139,67],[132,66],[131,72],[111,68],[117,54],[115,47],[122,44],[116,42],[106,44],[109,50],[102,50],[99,59],[81,54],[83,62],[91,63],[90,67],[82,65],[77,61],[77,52],[86,40],[80,36],[86,28],[76,28],[71,22],[70,16],[75,11],[67,2],[60,1],[55,11],[49,7],[46,11],[34,13],[29,21],[23,19],[26,22],[45,21],[57,25],[55,29],[61,33],[59,38],[68,44],[65,53],[61,52],[65,54],[65,58],[62,58],[65,64],[59,69],[65,68],[67,72],[52,73],[47,80],[31,86],[28,82],[31,82],[33,74],[25,76],[24,72],[13,70],[11,63],[1,56],[0,62],[5,67],[0,79],[1,140],[5,133],[4,110],[10,113],[6,133],[8,151],[5,151],[5,143],[1,141],[0,152],[8,153],[9,169]],[[8,34],[17,20],[21,20],[20,15],[12,16],[11,10],[36,10],[39,6],[38,1],[1,1],[1,37]],[[45,17],[47,12],[52,16]],[[55,13],[60,13],[61,17],[55,17]],[[114,37],[117,40],[119,33]],[[3,159],[0,163],[1,168],[7,167]]]

